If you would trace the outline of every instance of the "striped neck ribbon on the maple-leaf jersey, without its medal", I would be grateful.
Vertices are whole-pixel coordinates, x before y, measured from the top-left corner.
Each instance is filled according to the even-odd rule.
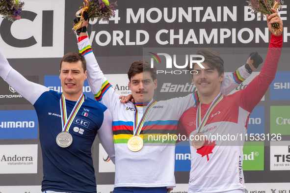
[[[219,92],[219,94],[217,95],[217,97],[215,97],[215,99],[212,101],[210,108],[208,109],[206,115],[204,116],[204,118],[201,120],[201,103],[199,103],[198,108],[197,108],[197,113],[196,113],[196,130],[197,133],[200,133],[202,128],[205,126],[211,111],[213,110],[213,108],[218,104],[218,102],[220,102],[223,99],[223,94],[221,92]]]

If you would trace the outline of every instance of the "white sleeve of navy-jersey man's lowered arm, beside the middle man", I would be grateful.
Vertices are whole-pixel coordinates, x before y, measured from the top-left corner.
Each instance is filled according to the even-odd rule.
[[[112,116],[109,110],[104,112],[104,121],[101,128],[98,130],[98,137],[107,152],[108,156],[115,164],[115,149],[114,149],[114,139],[113,139],[113,126],[112,126]]]

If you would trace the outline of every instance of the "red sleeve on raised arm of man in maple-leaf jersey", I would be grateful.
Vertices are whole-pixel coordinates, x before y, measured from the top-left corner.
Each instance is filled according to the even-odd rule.
[[[271,34],[270,45],[260,74],[245,89],[231,96],[234,97],[237,104],[244,110],[252,112],[274,80],[282,51],[282,43],[282,35],[275,36]]]

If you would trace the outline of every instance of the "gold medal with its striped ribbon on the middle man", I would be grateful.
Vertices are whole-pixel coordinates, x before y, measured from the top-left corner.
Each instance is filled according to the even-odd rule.
[[[146,107],[145,112],[142,115],[141,120],[139,121],[138,124],[138,108],[135,105],[135,114],[134,114],[134,131],[133,131],[133,136],[128,140],[128,148],[131,151],[139,151],[143,147],[143,139],[140,137],[140,133],[143,128],[143,123],[145,120],[145,117],[147,116],[149,109],[156,103],[155,100],[152,100],[149,105]]]

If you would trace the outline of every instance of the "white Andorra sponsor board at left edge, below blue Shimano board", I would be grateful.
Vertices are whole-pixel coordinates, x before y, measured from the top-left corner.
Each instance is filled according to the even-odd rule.
[[[0,145],[0,174],[37,173],[37,144]]]

